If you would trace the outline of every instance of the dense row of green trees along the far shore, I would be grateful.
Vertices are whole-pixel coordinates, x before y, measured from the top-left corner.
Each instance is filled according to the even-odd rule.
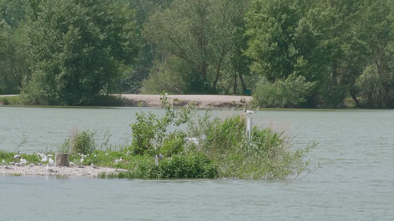
[[[0,93],[238,94],[260,107],[394,107],[391,0],[0,0]]]

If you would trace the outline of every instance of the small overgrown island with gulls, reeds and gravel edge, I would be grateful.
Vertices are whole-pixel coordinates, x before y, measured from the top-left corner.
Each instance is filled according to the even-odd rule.
[[[167,94],[162,94],[160,101],[164,116],[136,113],[137,121],[130,125],[129,146],[111,145],[108,133],[98,144],[95,131],[74,131],[56,151],[70,153],[70,167],[46,169],[46,164],[54,164],[54,151],[20,155],[0,151],[4,164],[0,173],[128,179],[287,179],[311,171],[310,162],[303,158],[316,144],[293,148],[283,133],[257,126],[251,129],[250,137],[246,136],[245,111],[212,118],[212,109],[196,116],[192,104],[174,109]],[[168,131],[169,126],[177,128],[181,124],[188,125],[186,131]]]

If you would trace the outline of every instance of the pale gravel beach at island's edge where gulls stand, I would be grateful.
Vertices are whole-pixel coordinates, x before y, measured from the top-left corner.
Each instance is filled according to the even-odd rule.
[[[0,168],[0,174],[20,174],[20,175],[49,175],[46,171],[46,166],[9,166],[11,169]],[[94,169],[91,166],[85,166],[85,168],[76,167],[52,167],[58,173],[51,173],[51,175],[61,175],[61,176],[89,176],[95,177],[101,172],[113,173],[120,171],[127,171],[125,169],[115,169],[115,168],[101,168]]]

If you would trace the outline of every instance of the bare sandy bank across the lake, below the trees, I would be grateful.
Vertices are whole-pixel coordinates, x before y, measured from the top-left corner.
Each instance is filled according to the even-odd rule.
[[[160,95],[149,94],[123,94],[124,105],[137,107],[142,102],[143,107],[160,107]],[[250,96],[231,95],[168,95],[176,107],[186,107],[194,103],[197,107],[244,107],[249,106],[252,99]]]

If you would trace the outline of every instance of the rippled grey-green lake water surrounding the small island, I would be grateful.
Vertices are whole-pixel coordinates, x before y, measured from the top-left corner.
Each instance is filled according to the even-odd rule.
[[[0,149],[56,149],[74,127],[130,139],[138,108],[0,107]],[[162,114],[159,109],[143,109]],[[203,112],[201,112],[203,113]],[[215,115],[228,115],[217,110]],[[0,175],[0,221],[393,220],[394,111],[260,110],[321,169],[300,180],[119,180]]]

